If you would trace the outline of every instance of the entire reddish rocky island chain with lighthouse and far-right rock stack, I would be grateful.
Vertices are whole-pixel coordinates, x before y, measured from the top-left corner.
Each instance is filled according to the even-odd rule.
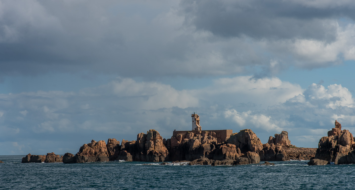
[[[151,129],[137,135],[136,141],[116,139],[94,141],[84,144],[79,152],[64,156],[27,154],[22,163],[63,162],[84,163],[103,161],[137,162],[189,162],[189,165],[241,165],[260,161],[310,160],[309,165],[355,163],[353,135],[341,130],[335,121],[335,128],[322,137],[318,148],[299,148],[291,145],[288,132],[270,136],[267,143],[250,129],[233,133],[232,130],[206,130],[200,126],[200,117],[192,114],[192,130],[175,131],[170,139],[163,139],[159,132]]]

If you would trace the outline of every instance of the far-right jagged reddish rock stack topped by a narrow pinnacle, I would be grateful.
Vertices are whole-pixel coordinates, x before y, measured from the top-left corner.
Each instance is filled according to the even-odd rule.
[[[334,164],[355,163],[355,141],[353,134],[342,130],[342,125],[335,120],[335,128],[328,131],[327,137],[322,137],[318,143],[315,159],[321,159]]]

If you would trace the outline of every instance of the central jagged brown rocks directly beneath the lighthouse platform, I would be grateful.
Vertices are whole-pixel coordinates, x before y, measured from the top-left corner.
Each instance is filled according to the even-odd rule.
[[[171,161],[191,161],[190,165],[235,165],[259,163],[260,139],[250,129],[232,134],[227,142],[217,143],[214,132],[187,132],[166,140]]]

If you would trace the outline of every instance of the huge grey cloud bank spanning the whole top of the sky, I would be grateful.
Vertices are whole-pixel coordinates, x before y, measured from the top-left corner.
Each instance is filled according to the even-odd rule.
[[[355,59],[348,1],[0,2],[3,76],[262,78]]]

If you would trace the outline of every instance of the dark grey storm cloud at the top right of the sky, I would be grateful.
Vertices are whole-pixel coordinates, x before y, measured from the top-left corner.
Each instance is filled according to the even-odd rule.
[[[181,6],[187,23],[223,37],[334,40],[337,27],[327,19],[355,18],[353,6],[312,7],[302,1],[184,0]]]

